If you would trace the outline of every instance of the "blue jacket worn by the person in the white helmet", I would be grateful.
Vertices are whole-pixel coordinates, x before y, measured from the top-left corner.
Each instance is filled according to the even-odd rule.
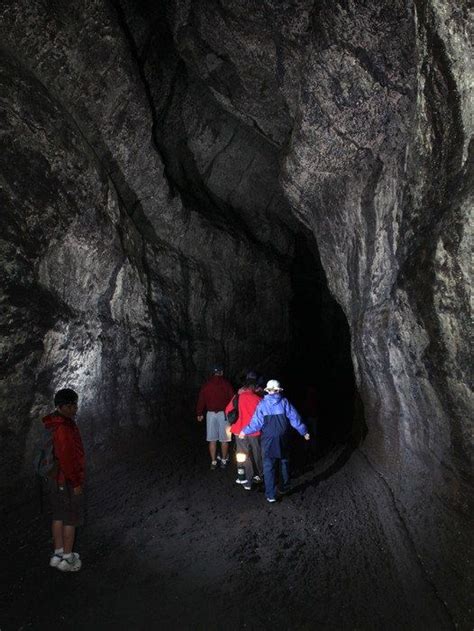
[[[288,452],[290,427],[304,436],[308,430],[300,415],[278,393],[267,394],[258,404],[250,423],[243,428],[244,434],[262,432],[262,447],[265,456],[285,458]]]

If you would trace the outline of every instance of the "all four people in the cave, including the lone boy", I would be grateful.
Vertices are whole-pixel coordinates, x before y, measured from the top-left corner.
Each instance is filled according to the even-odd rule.
[[[203,421],[206,414],[211,469],[227,467],[229,443],[234,436],[237,453],[245,456],[245,477],[238,482],[250,491],[253,484],[263,479],[269,502],[277,500],[277,468],[278,492],[289,489],[290,427],[306,440],[310,438],[300,415],[282,396],[282,391],[274,379],[263,388],[257,382],[257,375],[251,372],[236,394],[224,378],[222,367],[216,366],[201,388],[197,404],[197,420]],[[73,547],[76,528],[84,521],[85,478],[84,447],[74,420],[78,395],[64,388],[56,392],[54,404],[55,411],[43,418],[45,437],[36,471],[47,485],[52,511],[54,552],[50,566],[62,572],[77,572],[82,561]]]

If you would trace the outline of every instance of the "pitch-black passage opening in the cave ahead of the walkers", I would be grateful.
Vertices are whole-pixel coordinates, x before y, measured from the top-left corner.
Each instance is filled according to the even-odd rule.
[[[316,417],[323,445],[356,443],[362,436],[356,436],[349,326],[328,289],[316,244],[303,235],[296,237],[291,278],[288,385],[306,416]]]

